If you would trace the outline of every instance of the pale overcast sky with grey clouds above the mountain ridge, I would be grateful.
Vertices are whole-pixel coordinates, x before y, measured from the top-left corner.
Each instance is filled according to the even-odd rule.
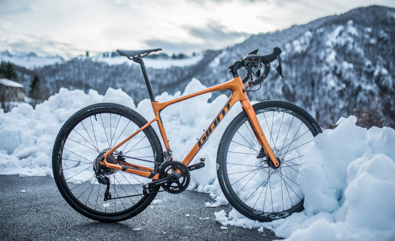
[[[65,59],[122,49],[200,52],[394,0],[0,0],[0,51]]]

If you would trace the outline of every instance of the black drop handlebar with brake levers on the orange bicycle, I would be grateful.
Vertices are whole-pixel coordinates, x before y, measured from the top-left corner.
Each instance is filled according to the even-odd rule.
[[[240,69],[241,67],[246,67],[247,68],[247,75],[246,77],[244,77],[242,79],[243,84],[247,82],[247,86],[248,87],[252,87],[255,86],[257,84],[262,83],[269,75],[270,72],[270,63],[278,60],[278,66],[277,66],[277,72],[280,74],[281,77],[284,78],[283,76],[283,72],[281,70],[281,58],[280,58],[280,53],[281,53],[281,49],[278,47],[275,47],[273,49],[273,52],[267,55],[260,55],[257,54],[258,49],[255,49],[254,51],[252,51],[251,53],[247,54],[244,58],[240,58],[238,60],[236,60],[236,62],[229,66],[229,68],[231,69],[230,72],[233,73],[233,75],[235,75],[235,73],[237,74],[237,69]],[[264,66],[264,72],[262,73],[262,75],[260,77],[258,77],[255,80],[252,81],[248,81],[251,77],[251,71],[250,68],[248,68],[248,64],[249,62],[261,62]],[[259,75],[259,70],[258,70],[258,74]]]

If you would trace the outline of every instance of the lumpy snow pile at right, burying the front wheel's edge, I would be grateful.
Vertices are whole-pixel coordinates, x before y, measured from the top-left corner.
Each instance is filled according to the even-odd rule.
[[[222,225],[265,227],[287,240],[395,238],[395,131],[356,126],[350,116],[314,138],[299,169],[305,211],[259,223],[235,210]],[[259,229],[258,229],[259,230]],[[260,229],[261,230],[261,229]]]

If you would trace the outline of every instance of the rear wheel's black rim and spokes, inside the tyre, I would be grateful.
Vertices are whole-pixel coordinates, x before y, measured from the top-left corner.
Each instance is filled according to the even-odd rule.
[[[106,109],[86,118],[77,120],[76,124],[65,134],[62,153],[61,182],[68,196],[90,213],[100,216],[118,216],[129,213],[145,201],[148,195],[110,199],[104,201],[106,186],[99,184],[93,171],[93,162],[98,155],[114,147],[139,126],[131,118]],[[155,160],[155,147],[146,130],[123,144],[117,150],[123,155],[144,160]],[[117,153],[114,153],[117,158]],[[154,163],[126,158],[127,162],[154,168]],[[138,175],[117,171],[106,175],[110,180],[110,193],[114,197],[142,194],[142,184],[151,181]]]

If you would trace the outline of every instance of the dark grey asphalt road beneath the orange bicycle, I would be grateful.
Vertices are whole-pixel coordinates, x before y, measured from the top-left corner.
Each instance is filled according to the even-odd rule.
[[[26,190],[26,192],[21,192]],[[163,202],[119,223],[93,221],[74,211],[52,177],[0,175],[0,240],[273,240],[270,230],[228,226],[221,230],[214,212],[205,208],[206,193],[158,193]],[[190,217],[186,217],[190,214]],[[201,218],[201,219],[200,219]],[[206,219],[204,219],[206,218]],[[140,231],[133,229],[141,228]]]

